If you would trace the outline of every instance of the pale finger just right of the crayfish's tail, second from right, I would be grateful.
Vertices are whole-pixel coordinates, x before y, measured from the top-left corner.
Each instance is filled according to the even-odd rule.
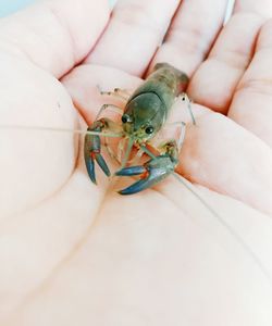
[[[194,101],[227,112],[234,89],[252,58],[262,22],[251,13],[232,16],[189,84],[188,95]]]

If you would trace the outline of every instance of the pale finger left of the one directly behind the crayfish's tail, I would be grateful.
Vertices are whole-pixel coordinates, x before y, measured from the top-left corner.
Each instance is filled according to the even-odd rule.
[[[180,0],[121,0],[87,62],[141,75],[161,43]]]

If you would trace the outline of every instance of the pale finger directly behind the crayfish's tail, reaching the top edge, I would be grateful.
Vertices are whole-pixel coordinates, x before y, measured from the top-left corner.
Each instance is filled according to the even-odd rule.
[[[152,65],[169,62],[190,76],[210,50],[226,4],[227,0],[183,1]]]

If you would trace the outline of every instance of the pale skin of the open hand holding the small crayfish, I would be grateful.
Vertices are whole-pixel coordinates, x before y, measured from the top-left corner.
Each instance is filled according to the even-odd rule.
[[[120,1],[109,18],[107,1],[48,1],[0,22],[1,325],[271,325],[271,279],[178,180],[121,197],[127,180],[90,183],[78,137],[15,128],[86,128],[121,104],[97,85],[183,70],[197,126],[178,172],[271,275],[271,1],[237,0],[221,29],[225,3]]]

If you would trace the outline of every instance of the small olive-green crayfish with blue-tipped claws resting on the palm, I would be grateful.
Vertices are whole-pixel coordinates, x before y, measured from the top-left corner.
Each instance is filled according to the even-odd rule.
[[[188,77],[186,74],[168,63],[158,63],[153,72],[131,96],[127,96],[121,89],[115,89],[113,92],[101,92],[115,95],[126,100],[126,104],[124,110],[104,104],[92,125],[87,129],[84,156],[88,175],[92,183],[96,184],[95,162],[107,176],[110,176],[110,170],[101,154],[101,136],[107,139],[107,135],[127,140],[127,149],[123,160],[118,159],[121,163],[121,170],[115,175],[140,176],[139,180],[119,191],[121,195],[132,195],[150,188],[174,173],[178,164],[184,133],[181,133],[180,139],[163,141],[156,148],[152,146],[152,139],[168,121],[174,100],[178,96],[182,96],[183,100],[187,100],[191,120],[195,124],[189,99],[183,93],[187,84]],[[110,106],[121,114],[120,123],[108,117],[99,117],[101,112]],[[180,127],[181,130],[184,129],[185,123],[180,123]],[[116,134],[116,130],[120,133]],[[123,146],[124,142],[120,141],[118,152],[122,152]],[[106,147],[108,147],[107,143]],[[138,150],[138,158],[145,153],[150,159],[143,165],[127,166],[133,148]],[[153,151],[158,154],[153,154]]]

